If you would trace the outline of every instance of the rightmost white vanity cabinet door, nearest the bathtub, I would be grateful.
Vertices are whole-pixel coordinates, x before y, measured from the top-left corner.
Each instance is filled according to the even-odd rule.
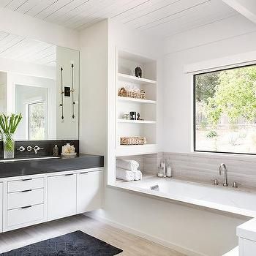
[[[78,214],[102,207],[102,171],[78,173]]]

